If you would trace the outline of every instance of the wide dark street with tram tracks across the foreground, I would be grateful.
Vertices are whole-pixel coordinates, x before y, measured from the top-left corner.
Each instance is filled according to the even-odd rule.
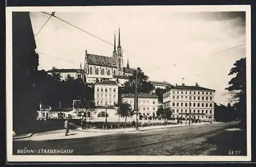
[[[238,127],[238,123],[205,124],[63,140],[13,141],[13,154],[19,155],[17,150],[26,148],[73,150],[72,154],[66,155],[228,155],[230,151],[240,151],[239,155],[246,155],[246,131],[225,130],[232,127]]]

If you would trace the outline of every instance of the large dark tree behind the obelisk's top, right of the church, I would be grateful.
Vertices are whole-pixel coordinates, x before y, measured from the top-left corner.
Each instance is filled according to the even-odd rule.
[[[150,93],[154,87],[151,82],[148,80],[148,76],[142,72],[138,67],[138,93]],[[124,82],[123,89],[125,93],[134,93],[135,90],[135,79],[136,79],[136,70],[133,71],[133,75],[129,76],[129,80]]]

